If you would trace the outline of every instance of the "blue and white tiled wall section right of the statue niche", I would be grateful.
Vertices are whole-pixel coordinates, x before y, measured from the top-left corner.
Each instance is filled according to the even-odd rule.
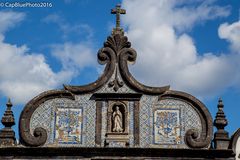
[[[140,147],[188,148],[184,142],[185,133],[189,129],[196,129],[199,133],[202,131],[200,117],[188,103],[176,99],[158,101],[157,96],[145,95],[140,104]],[[162,124],[162,127],[157,127],[159,124],[156,122],[156,114],[164,112],[168,115],[175,113],[171,115],[176,120],[176,122],[171,122],[174,127],[164,127],[168,123],[167,120],[165,120],[165,124]],[[164,128],[170,132],[169,134],[176,129],[176,135],[169,137],[164,132],[163,135],[157,134],[159,129],[162,132]]]

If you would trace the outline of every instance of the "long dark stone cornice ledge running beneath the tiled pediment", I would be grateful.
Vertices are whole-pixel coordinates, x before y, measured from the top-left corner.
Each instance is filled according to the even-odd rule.
[[[232,150],[206,150],[206,149],[79,148],[79,147],[0,148],[0,159],[6,158],[234,160],[234,154]]]

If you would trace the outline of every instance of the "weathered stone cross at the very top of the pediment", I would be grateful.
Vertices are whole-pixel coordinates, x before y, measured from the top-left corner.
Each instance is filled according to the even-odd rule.
[[[113,29],[113,34],[123,33],[123,29],[120,27],[120,15],[126,14],[125,9],[121,9],[121,5],[117,4],[115,9],[111,10],[112,14],[116,14],[116,28]]]

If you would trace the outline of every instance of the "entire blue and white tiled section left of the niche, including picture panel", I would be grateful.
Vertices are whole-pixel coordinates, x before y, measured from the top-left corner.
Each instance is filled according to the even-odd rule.
[[[44,146],[95,146],[96,105],[91,94],[75,100],[56,98],[41,104],[30,120],[30,132],[37,127],[47,131]]]

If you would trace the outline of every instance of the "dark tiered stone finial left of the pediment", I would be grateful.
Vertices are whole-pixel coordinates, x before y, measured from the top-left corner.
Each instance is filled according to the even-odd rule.
[[[11,128],[15,125],[14,115],[11,110],[12,103],[8,99],[6,104],[7,109],[2,117],[2,124],[4,128],[0,130],[0,146],[13,146],[16,144],[15,132]]]

